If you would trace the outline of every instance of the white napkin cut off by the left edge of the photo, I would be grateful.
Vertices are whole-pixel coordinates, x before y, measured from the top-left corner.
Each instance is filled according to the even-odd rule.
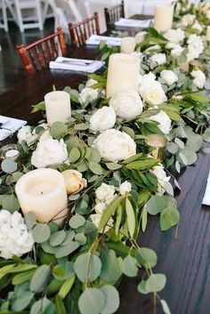
[[[15,119],[13,117],[0,116],[0,141],[15,133],[21,126],[26,125],[27,121]]]

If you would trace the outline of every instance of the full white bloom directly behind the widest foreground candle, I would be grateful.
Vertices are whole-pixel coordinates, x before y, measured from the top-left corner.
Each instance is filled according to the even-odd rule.
[[[51,138],[39,141],[36,150],[31,157],[31,164],[36,168],[44,168],[48,165],[62,164],[68,158],[67,145]]]

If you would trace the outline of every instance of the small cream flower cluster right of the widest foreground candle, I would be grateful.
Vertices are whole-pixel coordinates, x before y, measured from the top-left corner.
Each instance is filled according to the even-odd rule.
[[[130,182],[125,181],[119,186],[119,193],[122,196],[125,196],[127,193],[129,193],[132,189],[132,185]],[[95,195],[96,195],[96,205],[94,206],[95,213],[91,214],[91,220],[93,221],[93,224],[98,228],[100,221],[101,221],[101,215],[103,211],[105,210],[106,206],[110,204],[110,202],[117,197],[117,194],[115,194],[116,189],[114,185],[108,185],[106,183],[102,183],[101,186],[96,189]],[[109,229],[113,226],[113,219],[109,218],[109,221],[104,229],[104,232],[108,232]]]

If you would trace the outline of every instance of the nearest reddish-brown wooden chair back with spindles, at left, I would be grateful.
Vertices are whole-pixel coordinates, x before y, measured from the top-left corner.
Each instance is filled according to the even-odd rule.
[[[61,28],[57,28],[56,33],[45,36],[32,44],[17,44],[16,48],[28,76],[46,68],[49,62],[59,55],[67,56],[67,47]]]

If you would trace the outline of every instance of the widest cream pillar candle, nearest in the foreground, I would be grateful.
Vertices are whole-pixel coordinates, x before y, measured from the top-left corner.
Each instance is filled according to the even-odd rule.
[[[61,173],[36,169],[24,174],[15,186],[22,213],[32,212],[39,222],[61,222],[68,213],[67,192]]]

